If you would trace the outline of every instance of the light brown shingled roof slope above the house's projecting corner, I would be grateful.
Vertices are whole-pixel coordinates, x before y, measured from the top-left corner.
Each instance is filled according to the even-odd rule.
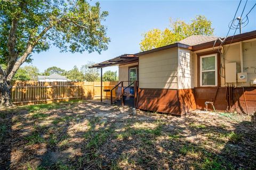
[[[185,39],[182,39],[181,41],[179,41],[179,43],[186,44],[186,45],[189,45],[189,46],[194,46],[194,45],[198,45],[198,44],[207,43],[209,41],[214,41],[217,38],[218,37],[214,37],[214,36],[194,35],[194,36],[190,36],[190,37],[187,37]]]

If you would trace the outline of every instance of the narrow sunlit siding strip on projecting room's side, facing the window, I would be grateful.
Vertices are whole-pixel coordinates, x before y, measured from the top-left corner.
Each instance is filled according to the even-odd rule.
[[[194,88],[193,54],[188,49],[179,48],[178,89],[190,88]]]

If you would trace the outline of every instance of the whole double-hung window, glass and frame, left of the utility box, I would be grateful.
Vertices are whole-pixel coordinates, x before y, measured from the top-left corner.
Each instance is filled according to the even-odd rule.
[[[200,57],[200,86],[217,86],[217,54]]]

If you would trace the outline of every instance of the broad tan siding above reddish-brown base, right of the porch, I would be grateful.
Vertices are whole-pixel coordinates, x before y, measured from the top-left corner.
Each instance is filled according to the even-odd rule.
[[[139,57],[140,88],[177,89],[178,48]]]

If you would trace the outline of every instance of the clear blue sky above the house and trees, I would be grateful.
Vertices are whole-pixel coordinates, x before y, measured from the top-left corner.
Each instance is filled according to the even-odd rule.
[[[92,1],[90,3],[95,3]],[[141,34],[150,29],[169,28],[170,18],[189,22],[196,15],[205,15],[212,21],[214,36],[225,37],[228,23],[233,19],[239,1],[99,1],[101,9],[109,15],[102,24],[107,25],[107,35],[110,37],[108,50],[98,53],[60,53],[52,47],[40,54],[33,54],[33,63],[43,72],[51,66],[70,70],[77,65],[81,67],[87,61],[101,62],[125,53],[137,53],[140,50]],[[245,15],[256,1],[248,1]],[[237,16],[242,13],[245,1],[242,1]],[[249,15],[249,24],[242,32],[256,30],[256,7]],[[233,35],[234,31],[230,31]],[[238,31],[237,31],[238,33]],[[106,67],[103,72],[116,71],[116,66]]]

